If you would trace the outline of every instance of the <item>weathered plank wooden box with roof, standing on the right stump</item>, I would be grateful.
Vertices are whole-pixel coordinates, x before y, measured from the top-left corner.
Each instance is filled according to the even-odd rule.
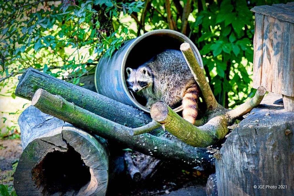
[[[285,110],[294,112],[294,6],[255,6],[253,88],[284,96]]]

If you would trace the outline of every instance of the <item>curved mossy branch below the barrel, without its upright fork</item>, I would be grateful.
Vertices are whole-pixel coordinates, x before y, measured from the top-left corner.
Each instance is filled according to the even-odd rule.
[[[228,110],[222,115],[211,118],[205,125],[199,127],[183,119],[162,101],[153,104],[150,113],[153,120],[183,142],[195,147],[206,147],[223,139],[228,133],[229,123],[256,107],[265,93],[265,88],[259,87],[253,98],[234,110]]]

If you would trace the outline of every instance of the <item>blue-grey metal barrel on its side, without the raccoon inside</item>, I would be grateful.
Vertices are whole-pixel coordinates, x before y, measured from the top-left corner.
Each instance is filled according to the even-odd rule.
[[[99,60],[95,71],[97,92],[150,113],[150,110],[144,107],[146,100],[129,91],[126,83],[126,68],[136,69],[166,49],[180,50],[180,46],[184,42],[190,44],[199,65],[203,68],[200,53],[187,36],[168,29],[154,30],[126,41],[111,58],[103,56]],[[179,112],[182,110],[182,106],[179,105],[174,110]]]

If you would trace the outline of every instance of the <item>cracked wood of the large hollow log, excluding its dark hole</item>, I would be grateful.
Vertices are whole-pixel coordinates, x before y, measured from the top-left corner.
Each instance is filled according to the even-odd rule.
[[[19,125],[24,151],[14,174],[14,188],[18,195],[46,195],[49,189],[54,189],[55,187],[42,184],[44,169],[39,167],[42,167],[48,154],[66,153],[69,146],[74,148],[89,167],[91,179],[79,190],[67,190],[66,194],[105,195],[109,156],[106,140],[44,114],[34,106],[21,114]],[[60,167],[66,167],[66,164],[72,163],[60,163]]]

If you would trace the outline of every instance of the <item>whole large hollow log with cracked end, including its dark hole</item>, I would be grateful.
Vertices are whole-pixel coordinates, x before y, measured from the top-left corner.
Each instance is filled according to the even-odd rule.
[[[106,140],[34,106],[21,114],[19,125],[24,151],[14,174],[17,195],[106,194]]]

